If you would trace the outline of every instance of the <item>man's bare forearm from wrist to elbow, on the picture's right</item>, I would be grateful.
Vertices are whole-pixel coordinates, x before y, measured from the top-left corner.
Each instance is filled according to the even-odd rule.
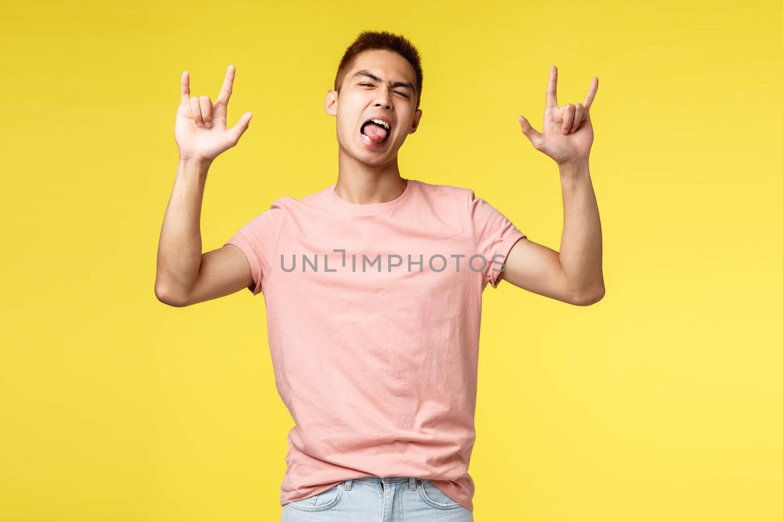
[[[604,293],[601,266],[601,220],[586,160],[560,165],[563,189],[563,235],[560,264],[577,296],[593,300]]]

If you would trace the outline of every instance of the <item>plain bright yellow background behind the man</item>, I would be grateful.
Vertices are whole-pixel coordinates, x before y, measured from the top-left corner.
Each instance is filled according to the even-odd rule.
[[[591,111],[606,297],[485,291],[474,516],[783,520],[778,2],[3,2],[0,520],[279,520],[286,434],[262,296],[153,293],[179,78],[236,65],[204,250],[334,183],[323,112],[363,29],[423,55],[402,175],[559,248],[558,101]],[[335,311],[337,313],[337,311]],[[341,400],[339,397],[330,400]]]

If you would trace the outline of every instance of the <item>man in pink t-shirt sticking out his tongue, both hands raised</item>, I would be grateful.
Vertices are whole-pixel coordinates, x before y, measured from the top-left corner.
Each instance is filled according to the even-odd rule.
[[[226,128],[235,70],[213,105],[182,101],[179,167],[157,257],[158,299],[182,307],[263,293],[288,433],[283,520],[473,520],[482,291],[505,279],[576,305],[604,295],[590,182],[590,104],[557,106],[550,70],[543,131],[522,131],[559,167],[561,252],[527,239],[471,189],[402,178],[397,154],[420,124],[422,73],[410,41],[365,31],[348,47],[324,110],[336,117],[337,182],[281,197],[202,254],[204,181],[251,113]],[[309,139],[316,139],[315,136]]]

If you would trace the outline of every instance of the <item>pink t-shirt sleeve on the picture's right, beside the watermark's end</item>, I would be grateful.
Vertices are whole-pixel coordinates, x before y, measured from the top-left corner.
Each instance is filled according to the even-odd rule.
[[[500,281],[497,276],[503,272],[506,256],[511,247],[525,236],[514,224],[495,207],[476,197],[472,190],[468,191],[468,208],[470,210],[473,241],[476,254],[484,256],[486,263],[483,271],[484,284],[489,283],[497,288]],[[472,266],[478,268],[480,263],[474,261]]]

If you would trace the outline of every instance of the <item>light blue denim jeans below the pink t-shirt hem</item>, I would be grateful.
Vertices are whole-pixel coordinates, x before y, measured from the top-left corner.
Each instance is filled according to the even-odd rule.
[[[473,512],[417,477],[359,477],[283,504],[280,522],[473,522]]]

